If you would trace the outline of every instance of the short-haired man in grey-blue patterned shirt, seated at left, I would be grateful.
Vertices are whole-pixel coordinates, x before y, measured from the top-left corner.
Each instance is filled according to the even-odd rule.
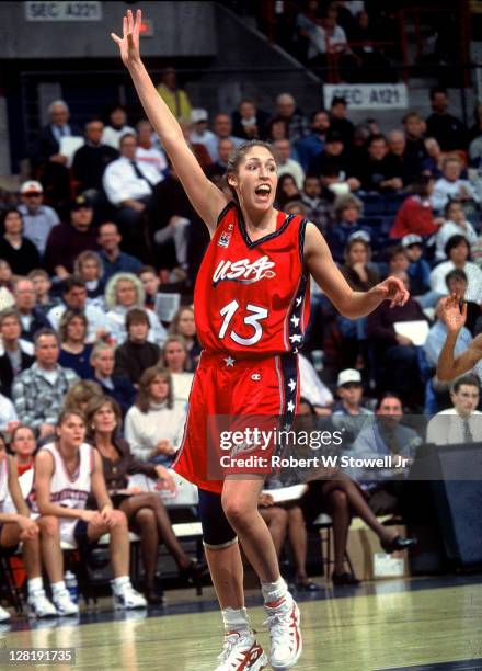
[[[78,375],[58,363],[57,334],[41,329],[34,337],[35,362],[15,376],[12,398],[22,424],[32,427],[38,436],[50,435],[64,406],[64,396]]]

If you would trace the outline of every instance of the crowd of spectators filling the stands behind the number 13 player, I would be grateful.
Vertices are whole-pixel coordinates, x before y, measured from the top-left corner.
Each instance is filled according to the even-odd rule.
[[[273,141],[279,157],[276,205],[320,228],[348,284],[367,291],[394,274],[411,291],[404,306],[382,304],[352,321],[312,284],[300,368],[305,408],[333,422],[371,416],[370,402],[362,402],[365,393],[375,413],[398,418],[382,425],[385,437],[406,409],[445,411],[448,388],[435,376],[446,332],[439,299],[455,291],[468,303],[460,346],[482,330],[480,107],[469,130],[437,88],[427,120],[409,112],[386,136],[375,122],[355,126],[341,98],[310,118],[287,92],[269,112],[242,100],[231,115],[218,113],[209,124],[207,112],[192,109],[176,88],[175,72],[165,72],[159,92],[220,189],[233,148],[246,138]],[[50,105],[32,157],[34,179],[9,194],[1,212],[0,430],[12,437],[26,428],[39,445],[48,444],[65,408],[82,412],[96,401],[93,410],[89,406],[93,423],[87,428],[94,430],[104,462],[116,454],[134,459],[127,487],[127,476],[142,468],[158,478],[156,468],[169,467],[182,440],[200,352],[187,304],[208,239],[149,122],[128,125],[117,106],[107,125],[100,118],[85,124],[84,144],[67,156],[62,138],[79,134],[69,115],[64,101]],[[186,303],[168,320],[157,311],[163,294]],[[480,384],[480,369],[474,375]],[[454,398],[457,394],[452,390]],[[108,431],[102,428],[107,414]],[[409,452],[413,457],[412,447]],[[341,478],[333,491],[318,492],[314,508],[319,512],[324,498],[336,519],[355,510],[380,532],[357,492],[352,480]],[[136,528],[154,528],[165,541],[164,513],[150,499],[144,503],[126,505],[127,518],[147,509]],[[260,504],[268,509],[273,501],[265,496]],[[286,534],[297,543],[289,531],[298,524],[296,508],[265,516],[278,524],[279,543]],[[341,543],[344,532],[336,533]],[[383,547],[394,547],[393,538],[380,534]],[[181,571],[194,570],[172,538],[170,549]],[[349,583],[343,544],[336,551],[334,581]],[[296,558],[297,582],[312,590],[305,559]],[[146,593],[154,602],[147,555],[145,564]]]

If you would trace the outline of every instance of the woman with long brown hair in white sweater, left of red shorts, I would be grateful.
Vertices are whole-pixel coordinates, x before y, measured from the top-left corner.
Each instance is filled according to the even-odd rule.
[[[147,368],[139,379],[135,405],[128,410],[124,435],[141,462],[170,466],[184,433],[186,414],[176,407],[168,371]]]

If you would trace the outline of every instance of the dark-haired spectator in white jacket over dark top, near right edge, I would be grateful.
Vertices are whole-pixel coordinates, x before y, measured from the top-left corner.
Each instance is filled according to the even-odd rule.
[[[452,236],[445,246],[445,253],[448,261],[444,261],[434,268],[431,273],[431,288],[440,296],[447,294],[446,276],[454,270],[462,270],[467,275],[466,299],[472,300],[478,305],[482,302],[482,271],[469,261],[470,244],[464,236]]]

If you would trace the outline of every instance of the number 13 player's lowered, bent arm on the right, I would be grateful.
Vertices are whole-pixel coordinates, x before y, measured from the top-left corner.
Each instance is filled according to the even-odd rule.
[[[344,317],[365,317],[385,299],[390,307],[404,305],[409,292],[398,277],[388,277],[368,292],[354,292],[333,261],[330,249],[314,224],[308,224],[303,250],[305,264],[335,308]]]

